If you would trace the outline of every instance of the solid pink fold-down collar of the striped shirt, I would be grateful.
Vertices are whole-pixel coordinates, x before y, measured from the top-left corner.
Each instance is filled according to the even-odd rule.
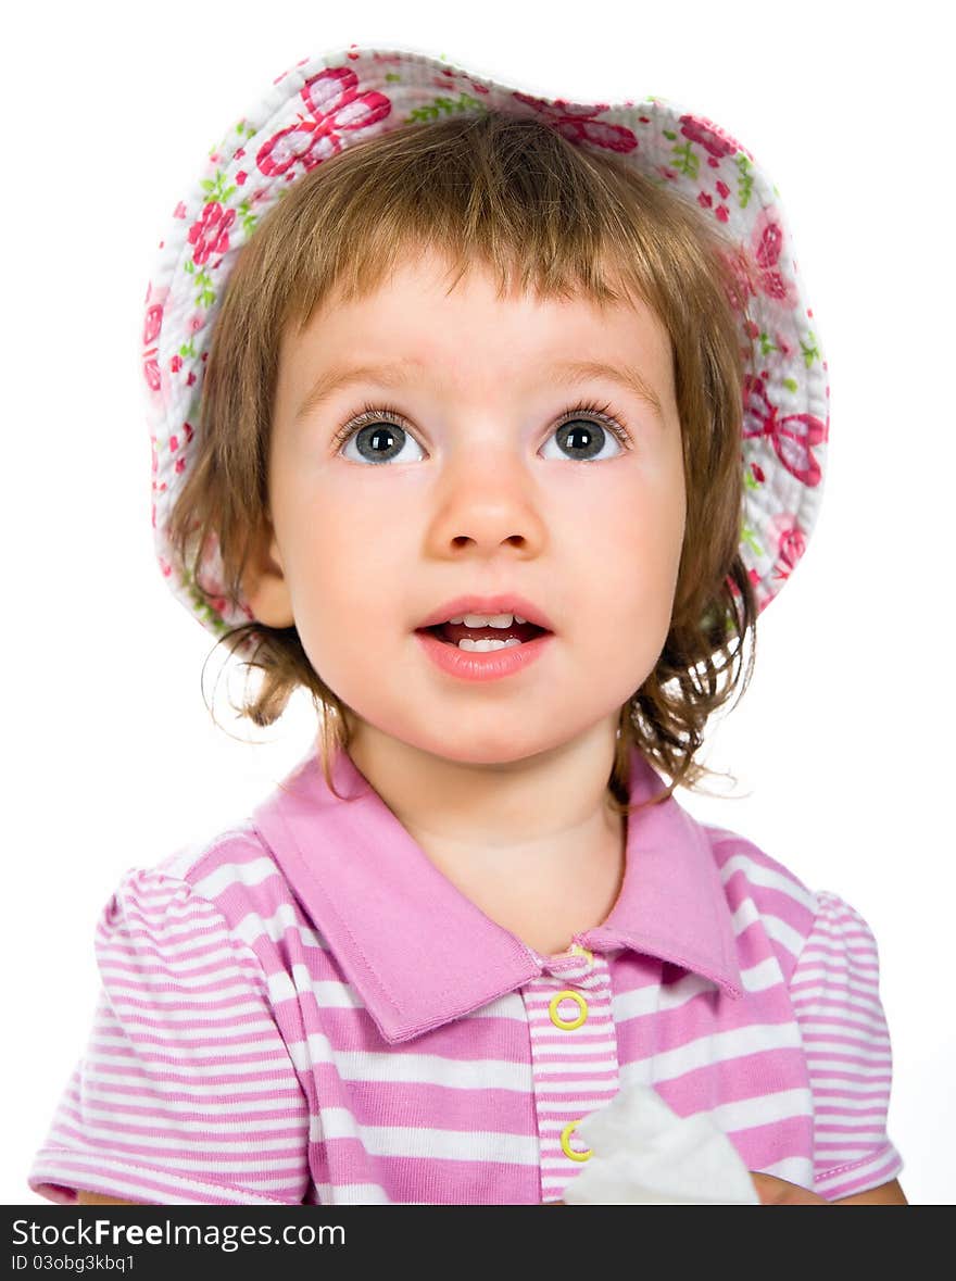
[[[252,821],[387,1041],[410,1040],[550,968],[438,871],[347,753],[332,778],[358,799],[334,797],[311,755]],[[632,748],[632,803],[663,789]],[[732,998],[743,991],[707,831],[673,797],[629,819],[618,901],[577,942],[597,952],[632,948]]]

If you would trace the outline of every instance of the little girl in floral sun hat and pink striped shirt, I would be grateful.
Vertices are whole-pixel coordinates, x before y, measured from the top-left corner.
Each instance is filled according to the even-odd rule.
[[[866,922],[673,797],[816,518],[811,318],[661,100],[352,47],[236,122],[147,293],[152,523],[243,712],[320,733],[110,899],[35,1190],[560,1202],[642,1084],[764,1202],[905,1204]]]

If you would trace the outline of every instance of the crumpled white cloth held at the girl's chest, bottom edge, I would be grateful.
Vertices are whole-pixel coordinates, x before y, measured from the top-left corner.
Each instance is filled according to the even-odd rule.
[[[648,1085],[619,1090],[575,1139],[592,1155],[568,1205],[759,1205],[737,1149],[706,1113],[679,1117]]]

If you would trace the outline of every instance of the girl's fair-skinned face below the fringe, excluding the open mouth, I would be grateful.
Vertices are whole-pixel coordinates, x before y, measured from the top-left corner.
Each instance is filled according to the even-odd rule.
[[[643,305],[500,301],[479,268],[447,293],[445,270],[408,261],[373,296],[329,301],[283,336],[269,552],[246,593],[260,621],[295,621],[359,726],[504,763],[601,720],[616,728],[652,671],[684,534],[680,424],[670,343]],[[572,373],[588,363],[630,370],[647,395]],[[382,371],[332,386],[356,366]],[[566,414],[579,405],[606,411],[629,447],[600,414]],[[373,446],[373,428],[337,443],[359,415],[391,442]],[[491,681],[437,667],[415,630],[472,593],[543,610],[555,635],[542,656]]]

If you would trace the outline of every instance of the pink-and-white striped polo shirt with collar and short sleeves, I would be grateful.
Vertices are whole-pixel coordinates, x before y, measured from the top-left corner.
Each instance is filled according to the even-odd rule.
[[[528,1204],[630,1082],[828,1199],[894,1179],[866,922],[673,798],[632,816],[607,920],[542,957],[428,860],[347,755],[132,871],[31,1186],[158,1204]],[[634,751],[630,799],[660,790]],[[719,1193],[714,1190],[715,1195]]]

